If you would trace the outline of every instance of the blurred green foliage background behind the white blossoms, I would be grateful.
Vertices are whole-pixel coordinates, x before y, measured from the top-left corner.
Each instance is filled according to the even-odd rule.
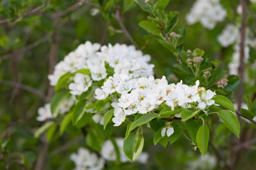
[[[128,0],[119,0],[119,4],[125,1]],[[97,0],[90,2],[98,3]],[[179,11],[178,26],[185,25],[187,28],[184,45],[186,50],[201,48],[212,59],[222,60],[221,67],[227,68],[233,51],[230,48],[222,48],[216,37],[227,23],[235,22],[236,7],[239,2],[221,0],[227,10],[227,17],[213,30],[203,28],[200,23],[193,26],[186,24],[185,15],[194,2],[194,0],[170,0],[166,10]],[[102,45],[108,43],[131,45],[125,34],[120,31],[121,28],[114,18],[114,10],[109,9],[108,20],[102,17],[97,8],[90,3],[82,3],[79,8],[68,11],[76,3],[75,0],[1,0],[0,2],[0,20],[14,18],[10,22],[0,23],[0,139],[2,143],[9,139],[9,155],[12,157],[8,163],[10,170],[35,169],[38,157],[45,150],[47,152],[45,170],[74,168],[69,158],[70,154],[76,152],[78,147],[85,147],[84,138],[78,129],[70,129],[60,138],[53,139],[47,146],[33,136],[35,130],[42,125],[41,122],[36,121],[38,108],[49,102],[53,95],[47,75],[52,73],[57,62],[87,40],[100,42]],[[45,6],[37,12],[19,17],[42,5]],[[146,20],[147,16],[148,13],[136,3],[126,11],[121,10],[121,20],[128,32],[138,46],[142,47],[143,53],[151,55],[155,73],[160,77],[166,75],[169,81],[177,82],[178,79],[173,75],[172,65],[176,63],[173,54],[156,39],[148,36],[148,33],[138,25],[140,21]],[[256,13],[252,16],[256,16]],[[248,20],[252,30],[256,28],[255,19],[251,17]],[[255,57],[255,50],[250,50],[250,53]],[[35,89],[36,94],[33,94],[31,91]],[[246,93],[249,93],[248,90],[245,91]],[[114,136],[124,136],[126,125],[115,128]],[[211,134],[211,137],[218,147],[220,149],[230,147],[232,135],[227,127],[222,125],[215,130],[217,133]],[[172,146],[168,145],[165,149],[160,144],[152,145],[154,134],[149,128],[144,132],[143,151],[150,155],[148,164],[127,163],[117,169],[189,170],[191,169],[189,161],[200,156],[199,151],[192,150],[192,145],[182,135],[177,142]],[[212,147],[209,147],[209,154],[215,156]],[[255,170],[256,152],[244,150],[241,155],[236,169]],[[198,161],[200,162],[200,159]],[[4,169],[5,164],[6,162],[0,159],[0,169]],[[207,168],[207,166],[203,167],[203,169]]]

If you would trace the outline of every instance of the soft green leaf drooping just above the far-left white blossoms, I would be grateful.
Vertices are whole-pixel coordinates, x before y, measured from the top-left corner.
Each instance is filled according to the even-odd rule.
[[[58,113],[61,104],[67,99],[68,96],[68,91],[59,91],[52,97],[50,102],[52,115],[56,115]]]

